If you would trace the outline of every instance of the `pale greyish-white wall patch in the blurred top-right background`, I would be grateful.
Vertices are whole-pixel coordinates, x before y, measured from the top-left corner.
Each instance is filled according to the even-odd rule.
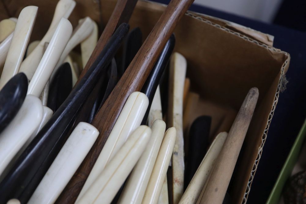
[[[282,0],[195,0],[194,3],[271,23]]]

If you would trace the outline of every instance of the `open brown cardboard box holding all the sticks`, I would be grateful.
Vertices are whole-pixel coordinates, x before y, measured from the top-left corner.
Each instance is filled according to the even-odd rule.
[[[116,3],[113,0],[76,2],[76,8],[69,17],[73,26],[76,26],[80,18],[89,16],[98,22],[100,28],[106,24]],[[57,1],[3,0],[2,3],[0,11],[9,10],[9,13],[1,13],[0,20],[18,17],[24,6],[39,6],[32,41],[41,39],[47,31]],[[161,4],[138,1],[129,22],[131,28],[139,26],[145,39],[164,8]],[[221,25],[216,24],[217,21]],[[201,15],[185,14],[175,29],[175,51],[186,57],[191,88],[200,94],[201,102],[205,102],[200,102],[199,112],[209,113],[203,110],[210,109],[209,104],[211,107],[218,107],[213,114],[213,121],[216,123],[226,115],[224,110],[239,110],[251,87],[259,89],[254,117],[229,189],[233,203],[245,203],[278,101],[280,79],[288,69],[290,56],[266,45],[271,43],[271,36],[263,34],[261,36],[266,36],[267,41],[260,40],[259,32],[250,29],[246,32],[240,29],[242,27],[224,22],[211,18],[207,20]],[[232,26],[231,29],[227,28],[229,25]]]

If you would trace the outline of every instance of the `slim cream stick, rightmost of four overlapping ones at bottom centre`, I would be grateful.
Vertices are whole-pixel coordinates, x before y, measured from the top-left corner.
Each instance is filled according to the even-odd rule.
[[[155,161],[149,183],[147,185],[146,192],[144,193],[144,198],[142,200],[143,204],[156,204],[159,199],[162,185],[164,183],[169,162],[172,156],[172,151],[174,149],[176,137],[177,132],[174,127],[169,128],[166,131]]]

